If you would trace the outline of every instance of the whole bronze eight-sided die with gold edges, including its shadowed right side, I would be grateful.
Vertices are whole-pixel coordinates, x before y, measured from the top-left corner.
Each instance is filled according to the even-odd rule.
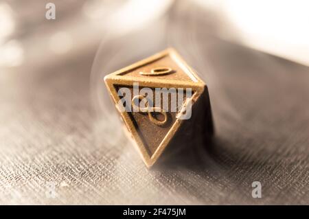
[[[213,134],[207,86],[174,49],[165,49],[149,58],[115,71],[106,76],[104,81],[148,168],[159,159],[166,147],[181,148],[196,143],[205,144],[205,140]],[[181,89],[192,89],[192,96],[187,97],[184,92],[183,104],[176,105],[179,106],[176,111],[165,112],[163,109],[161,111],[159,109],[159,113],[154,113],[143,108],[139,108],[138,112],[119,110],[118,103],[122,99],[122,96],[118,95],[119,89],[127,88],[133,93],[133,85],[136,83],[139,84],[139,90],[145,87],[152,89],[154,93],[153,105],[157,100],[155,99],[155,88],[175,88],[176,93]],[[172,93],[169,93],[166,100],[168,106],[173,104],[171,97]],[[139,99],[137,100],[139,102],[143,96],[133,95],[132,99]],[[133,106],[135,106],[134,101],[132,100]],[[161,106],[163,106],[164,100],[161,101]],[[190,103],[192,107],[188,107]],[[179,116],[186,111],[185,108],[186,110],[191,108],[190,119],[181,119]]]

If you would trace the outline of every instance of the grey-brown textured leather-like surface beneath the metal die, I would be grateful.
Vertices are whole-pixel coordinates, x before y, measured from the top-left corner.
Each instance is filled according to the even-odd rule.
[[[209,84],[216,137],[152,170],[93,104],[98,45],[1,72],[0,204],[308,205],[309,68],[202,36],[192,52],[172,45]],[[134,61],[114,56],[117,67]],[[262,198],[251,197],[253,181]]]

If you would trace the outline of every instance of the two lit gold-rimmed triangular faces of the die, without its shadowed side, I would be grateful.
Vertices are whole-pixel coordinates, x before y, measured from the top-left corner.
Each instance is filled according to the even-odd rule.
[[[160,157],[183,123],[183,114],[191,113],[188,106],[205,89],[174,49],[120,69],[104,80],[148,167]],[[162,91],[168,91],[165,98]]]

